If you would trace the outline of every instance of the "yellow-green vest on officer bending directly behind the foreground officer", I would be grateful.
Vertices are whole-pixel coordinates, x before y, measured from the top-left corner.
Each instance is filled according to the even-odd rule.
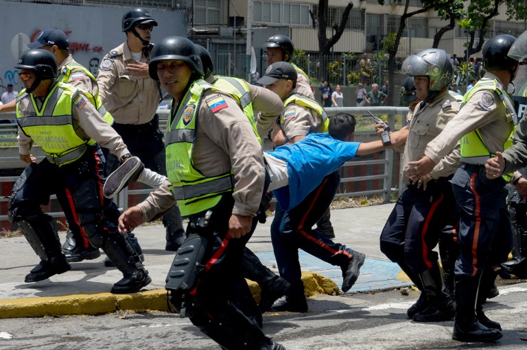
[[[224,92],[228,92],[229,95],[233,96],[236,101],[238,101],[250,123],[250,127],[252,127],[253,132],[255,132],[258,142],[261,144],[261,138],[258,135],[256,128],[255,112],[253,111],[253,99],[250,97],[250,88],[245,80],[233,77],[215,78],[216,80],[213,82],[213,86],[215,88],[220,88],[220,90],[223,90]]]

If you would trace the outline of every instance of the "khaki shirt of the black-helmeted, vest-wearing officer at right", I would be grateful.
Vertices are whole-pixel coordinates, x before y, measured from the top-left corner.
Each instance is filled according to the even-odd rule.
[[[485,77],[497,79],[488,72]],[[476,129],[480,130],[483,142],[491,153],[503,151],[513,127],[506,119],[505,106],[496,92],[480,90],[472,95],[443,132],[426,147],[425,155],[437,163],[455,147],[462,136]]]

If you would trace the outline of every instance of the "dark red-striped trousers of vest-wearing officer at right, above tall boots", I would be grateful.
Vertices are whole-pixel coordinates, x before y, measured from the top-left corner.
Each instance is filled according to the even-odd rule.
[[[505,181],[487,179],[484,166],[462,163],[452,188],[459,205],[460,254],[456,275],[474,276],[505,262],[513,245]]]

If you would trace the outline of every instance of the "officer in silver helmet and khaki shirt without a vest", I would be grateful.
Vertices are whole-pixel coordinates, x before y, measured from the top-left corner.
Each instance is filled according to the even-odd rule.
[[[459,151],[450,153],[436,166],[425,184],[410,182],[405,176],[408,163],[421,158],[425,145],[441,133],[459,110],[459,104],[448,93],[453,71],[452,62],[441,49],[410,55],[402,65],[402,72],[413,77],[415,94],[422,101],[411,115],[410,134],[403,149],[401,177],[407,187],[382,230],[380,248],[421,290],[419,299],[407,312],[408,317],[418,322],[454,317],[454,305],[445,292],[438,255],[432,249],[445,221],[453,218],[455,202],[448,180],[459,164]]]

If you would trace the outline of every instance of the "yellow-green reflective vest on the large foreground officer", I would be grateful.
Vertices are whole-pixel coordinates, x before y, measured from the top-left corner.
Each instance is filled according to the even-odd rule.
[[[175,113],[174,101],[171,104],[169,132],[165,135],[167,177],[184,217],[213,208],[224,193],[234,190],[232,169],[229,173],[206,177],[192,162],[198,110],[203,92],[209,89],[220,90],[198,80],[187,90]]]

